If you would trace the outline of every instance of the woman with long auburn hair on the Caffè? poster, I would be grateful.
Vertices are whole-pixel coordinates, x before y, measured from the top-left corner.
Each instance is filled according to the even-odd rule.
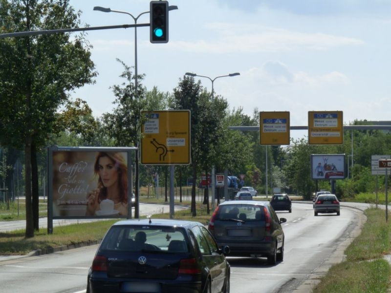
[[[103,214],[128,214],[128,166],[120,152],[99,152],[94,173],[98,186],[87,193],[87,216]],[[102,210],[100,204],[113,202],[113,209]],[[111,203],[112,207],[112,203]]]

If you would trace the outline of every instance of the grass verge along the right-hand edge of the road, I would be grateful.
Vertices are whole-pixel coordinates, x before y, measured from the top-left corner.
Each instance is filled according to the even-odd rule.
[[[384,210],[367,209],[365,214],[367,222],[346,249],[346,261],[332,266],[313,293],[388,292],[391,266],[383,255],[390,253],[391,225]]]

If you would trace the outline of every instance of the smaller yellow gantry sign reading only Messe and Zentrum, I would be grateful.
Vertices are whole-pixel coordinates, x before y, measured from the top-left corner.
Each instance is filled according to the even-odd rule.
[[[260,145],[289,145],[289,112],[260,112]]]

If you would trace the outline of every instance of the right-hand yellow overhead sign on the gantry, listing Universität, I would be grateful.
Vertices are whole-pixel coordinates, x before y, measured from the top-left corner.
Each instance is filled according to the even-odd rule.
[[[342,145],[342,111],[308,111],[309,145]]]

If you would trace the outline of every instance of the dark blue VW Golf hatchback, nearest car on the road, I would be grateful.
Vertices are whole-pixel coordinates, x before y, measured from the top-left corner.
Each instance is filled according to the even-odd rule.
[[[87,293],[229,293],[230,266],[198,222],[132,219],[113,224],[88,271]]]

